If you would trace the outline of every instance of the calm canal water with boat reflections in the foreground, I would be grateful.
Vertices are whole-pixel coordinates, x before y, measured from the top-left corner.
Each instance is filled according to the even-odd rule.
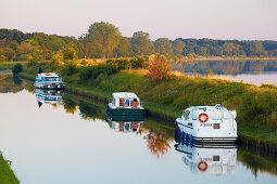
[[[0,80],[0,149],[24,184],[277,182],[276,159],[175,146],[173,129],[152,119],[119,131],[119,122],[105,120],[103,104],[8,83]],[[200,159],[207,168],[199,169]]]

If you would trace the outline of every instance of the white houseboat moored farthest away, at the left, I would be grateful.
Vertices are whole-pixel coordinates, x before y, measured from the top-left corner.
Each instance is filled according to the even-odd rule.
[[[35,86],[43,89],[62,89],[63,80],[55,73],[39,73],[37,74]]]

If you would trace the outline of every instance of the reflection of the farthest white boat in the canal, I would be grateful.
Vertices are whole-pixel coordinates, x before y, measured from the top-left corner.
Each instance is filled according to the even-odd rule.
[[[54,105],[62,101],[62,92],[60,90],[36,89],[35,94],[39,108],[42,104]]]

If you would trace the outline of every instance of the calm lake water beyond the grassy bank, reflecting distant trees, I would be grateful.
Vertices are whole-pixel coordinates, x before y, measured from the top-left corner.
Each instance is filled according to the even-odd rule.
[[[173,69],[188,75],[213,74],[214,78],[277,86],[277,61],[191,61],[176,63]]]

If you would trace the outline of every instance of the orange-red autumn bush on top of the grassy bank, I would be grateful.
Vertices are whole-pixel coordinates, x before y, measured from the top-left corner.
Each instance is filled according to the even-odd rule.
[[[169,78],[172,66],[163,55],[155,55],[154,60],[150,62],[149,76],[154,80],[164,80]]]

